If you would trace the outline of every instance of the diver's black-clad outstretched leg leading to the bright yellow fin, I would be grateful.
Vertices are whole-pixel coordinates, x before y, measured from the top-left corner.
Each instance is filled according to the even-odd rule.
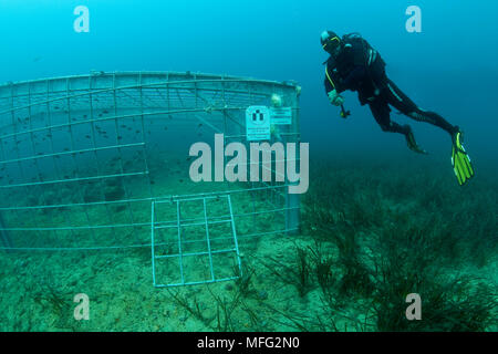
[[[457,126],[449,124],[445,118],[435,112],[424,111],[418,107],[407,95],[405,95],[394,82],[387,79],[387,87],[385,90],[385,100],[396,110],[408,117],[433,124],[454,135],[458,131]]]

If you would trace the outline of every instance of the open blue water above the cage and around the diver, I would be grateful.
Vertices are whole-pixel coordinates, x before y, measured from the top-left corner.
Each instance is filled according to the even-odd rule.
[[[90,33],[75,33],[73,9],[91,10]],[[346,94],[353,112],[336,119],[323,91],[326,53],[319,35],[360,32],[387,62],[387,74],[421,107],[466,133],[486,165],[496,165],[497,3],[417,1],[422,33],[408,33],[411,1],[2,1],[4,70],[0,81],[102,71],[194,71],[302,85],[302,133],[312,149],[400,148],[370,111]],[[400,118],[403,121],[404,118]],[[440,132],[414,124],[421,143],[447,152]],[[385,148],[384,148],[385,147]]]

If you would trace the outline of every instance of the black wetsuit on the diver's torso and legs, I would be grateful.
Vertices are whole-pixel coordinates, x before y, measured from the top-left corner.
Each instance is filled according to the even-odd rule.
[[[356,91],[362,105],[369,104],[384,132],[408,134],[409,126],[391,121],[391,107],[418,122],[427,122],[449,134],[457,127],[440,115],[419,108],[386,75],[385,62],[369,42],[357,34],[344,35],[338,55],[326,62],[325,91]]]

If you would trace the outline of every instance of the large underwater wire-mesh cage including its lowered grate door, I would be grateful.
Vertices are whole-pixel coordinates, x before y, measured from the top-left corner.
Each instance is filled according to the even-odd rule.
[[[295,232],[299,198],[287,183],[194,184],[188,148],[214,134],[248,144],[246,108],[270,105],[272,94],[292,108],[280,139],[299,143],[293,83],[93,72],[0,86],[2,249],[151,247],[155,285],[237,277],[217,273],[240,270],[237,240]]]

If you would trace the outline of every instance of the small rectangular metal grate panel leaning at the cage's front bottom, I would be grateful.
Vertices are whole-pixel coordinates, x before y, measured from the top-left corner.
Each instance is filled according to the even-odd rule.
[[[212,209],[217,209],[218,215],[209,215],[208,202]],[[188,211],[184,211],[187,204],[191,207]],[[170,210],[159,211],[160,208]],[[176,209],[174,222],[162,220],[158,216],[168,212],[172,216],[174,209]],[[224,210],[227,214],[219,215]],[[230,195],[153,201],[151,218],[154,287],[221,282],[241,275]]]

